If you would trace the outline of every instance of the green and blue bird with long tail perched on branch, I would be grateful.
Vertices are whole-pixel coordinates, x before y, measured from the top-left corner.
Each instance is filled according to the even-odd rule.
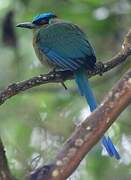
[[[41,13],[31,22],[19,23],[17,27],[33,31],[33,47],[44,66],[73,73],[80,95],[85,97],[93,112],[97,102],[86,71],[96,68],[96,55],[84,31],[51,12]],[[120,159],[110,137],[104,135],[101,142],[109,156]]]

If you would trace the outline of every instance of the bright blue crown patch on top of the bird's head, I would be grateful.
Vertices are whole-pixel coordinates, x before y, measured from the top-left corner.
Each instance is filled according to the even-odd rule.
[[[55,18],[55,17],[57,17],[57,16],[54,13],[42,13],[42,14],[37,15],[33,19],[32,23],[39,24],[43,20],[45,20],[45,22],[48,23],[51,18]]]

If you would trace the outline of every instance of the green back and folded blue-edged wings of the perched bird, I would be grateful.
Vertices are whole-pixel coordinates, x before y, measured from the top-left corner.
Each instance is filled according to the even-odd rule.
[[[93,69],[95,66],[95,53],[86,35],[71,23],[42,27],[36,43],[48,59],[63,70]]]

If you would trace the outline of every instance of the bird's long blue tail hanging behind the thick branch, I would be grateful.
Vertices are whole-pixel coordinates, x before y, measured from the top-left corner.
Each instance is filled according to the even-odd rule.
[[[80,95],[86,98],[86,101],[90,107],[90,111],[94,111],[97,108],[97,102],[89,85],[88,79],[86,78],[83,71],[78,71],[75,73],[75,81],[78,86]],[[120,159],[120,155],[109,137],[106,138],[104,136],[102,138],[102,144],[111,157],[114,156],[117,160]]]

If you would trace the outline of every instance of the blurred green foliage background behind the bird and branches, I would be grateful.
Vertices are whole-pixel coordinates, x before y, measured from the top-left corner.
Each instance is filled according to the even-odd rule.
[[[121,48],[131,24],[130,0],[0,0],[0,89],[10,83],[46,72],[32,48],[32,33],[16,29],[41,12],[54,12],[79,25],[88,35],[98,60],[108,60]],[[93,77],[90,82],[100,103],[111,87],[131,67],[131,61]],[[32,88],[0,107],[0,136],[12,173],[25,174],[47,163],[70,136],[75,124],[88,114],[86,102],[74,82]],[[131,179],[131,107],[108,130],[121,161],[108,158],[100,143],[82,161],[70,180]]]

